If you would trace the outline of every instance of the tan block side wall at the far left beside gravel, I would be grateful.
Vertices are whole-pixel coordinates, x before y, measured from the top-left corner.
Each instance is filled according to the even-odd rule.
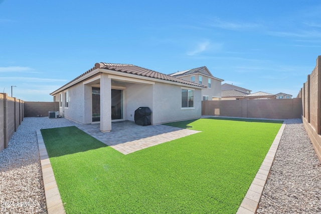
[[[9,140],[23,121],[24,102],[0,93],[0,151],[8,147]]]

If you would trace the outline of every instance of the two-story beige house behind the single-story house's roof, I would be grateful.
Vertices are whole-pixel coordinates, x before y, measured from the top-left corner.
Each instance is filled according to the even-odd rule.
[[[178,71],[170,74],[180,79],[206,85],[202,90],[202,100],[220,100],[221,84],[223,79],[214,77],[206,66],[193,68],[185,71]]]

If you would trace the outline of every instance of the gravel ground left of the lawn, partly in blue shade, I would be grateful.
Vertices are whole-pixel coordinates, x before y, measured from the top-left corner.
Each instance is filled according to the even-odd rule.
[[[46,213],[36,130],[74,126],[67,119],[24,118],[0,153],[0,213]]]

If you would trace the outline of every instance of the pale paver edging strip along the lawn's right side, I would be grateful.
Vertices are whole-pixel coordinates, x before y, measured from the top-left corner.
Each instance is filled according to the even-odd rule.
[[[283,122],[276,137],[274,138],[274,141],[273,141],[269,151],[267,152],[260,169],[258,170],[258,172],[257,172],[252,184],[250,185],[239,209],[236,212],[237,214],[245,214],[245,213],[254,214],[256,212],[256,209],[259,206],[259,202],[260,202],[260,199],[262,196],[262,192],[263,192],[265,183],[266,183],[267,178],[270,174],[273,160],[274,160],[277,148],[280,144],[284,128],[285,128],[285,122]],[[258,197],[258,195],[259,195],[259,197]]]

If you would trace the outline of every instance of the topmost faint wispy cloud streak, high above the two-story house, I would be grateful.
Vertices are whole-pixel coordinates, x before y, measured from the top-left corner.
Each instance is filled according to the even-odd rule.
[[[215,18],[211,23],[209,24],[211,27],[215,28],[222,28],[226,30],[247,30],[247,29],[253,29],[258,28],[260,25],[256,23],[246,23],[246,22],[227,22],[222,21],[218,18]]]

